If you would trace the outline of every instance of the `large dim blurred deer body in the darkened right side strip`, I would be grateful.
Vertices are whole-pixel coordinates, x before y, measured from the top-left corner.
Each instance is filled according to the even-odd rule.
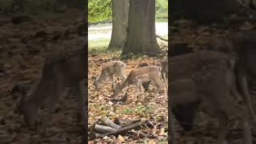
[[[234,100],[239,95],[234,80],[234,62],[226,54],[198,51],[170,58],[171,101],[175,106],[200,102],[214,110],[219,122],[218,144],[226,139],[227,122],[231,117],[242,119],[244,143],[252,144],[250,111]],[[245,103],[247,105],[247,103]],[[197,106],[193,106],[197,109]],[[194,110],[188,110],[194,113]],[[193,122],[193,121],[192,121]]]

